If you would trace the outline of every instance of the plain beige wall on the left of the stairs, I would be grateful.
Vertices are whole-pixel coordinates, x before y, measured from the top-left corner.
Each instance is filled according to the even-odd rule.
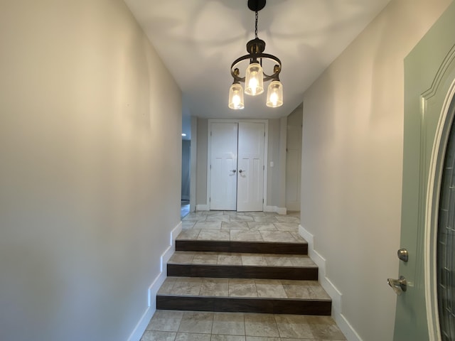
[[[180,221],[181,92],[121,0],[3,1],[0,41],[0,340],[127,340]]]

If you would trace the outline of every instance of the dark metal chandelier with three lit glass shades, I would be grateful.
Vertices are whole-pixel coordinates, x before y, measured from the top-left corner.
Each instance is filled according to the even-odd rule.
[[[247,43],[247,55],[234,60],[230,66],[230,74],[234,78],[229,90],[229,107],[230,109],[243,109],[243,88],[240,84],[245,83],[245,94],[256,96],[264,92],[264,82],[272,80],[267,88],[267,107],[281,107],[283,105],[283,85],[279,81],[279,72],[282,70],[282,62],[274,55],[264,53],[265,42],[257,38],[257,12],[264,8],[266,0],[248,0],[248,8],[256,13],[255,16],[255,39]],[[238,65],[244,60],[250,60],[245,71],[245,77],[240,77]],[[262,60],[272,60],[276,63],[273,67],[272,74],[267,75],[262,70]],[[270,71],[269,71],[270,72]]]

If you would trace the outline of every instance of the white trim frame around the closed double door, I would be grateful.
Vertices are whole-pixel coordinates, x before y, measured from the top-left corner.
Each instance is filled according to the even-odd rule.
[[[208,119],[207,124],[207,205],[210,210],[210,177],[212,176],[210,172],[210,155],[212,152],[211,143],[212,139],[210,138],[210,130],[212,123],[240,123],[240,122],[249,122],[249,123],[262,123],[264,124],[265,137],[264,137],[264,184],[263,184],[263,195],[264,203],[262,204],[262,211],[264,212],[264,207],[267,207],[267,161],[268,156],[268,147],[269,147],[269,120],[268,119]],[[238,162],[238,160],[237,160]],[[237,210],[237,209],[236,209]]]

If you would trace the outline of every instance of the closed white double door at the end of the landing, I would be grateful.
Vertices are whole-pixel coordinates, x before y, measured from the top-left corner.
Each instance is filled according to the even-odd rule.
[[[210,122],[210,210],[262,211],[265,124]]]

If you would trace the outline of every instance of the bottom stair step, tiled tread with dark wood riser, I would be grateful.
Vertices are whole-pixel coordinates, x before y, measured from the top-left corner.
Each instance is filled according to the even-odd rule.
[[[168,277],[156,308],[331,315],[331,298],[317,281]]]

